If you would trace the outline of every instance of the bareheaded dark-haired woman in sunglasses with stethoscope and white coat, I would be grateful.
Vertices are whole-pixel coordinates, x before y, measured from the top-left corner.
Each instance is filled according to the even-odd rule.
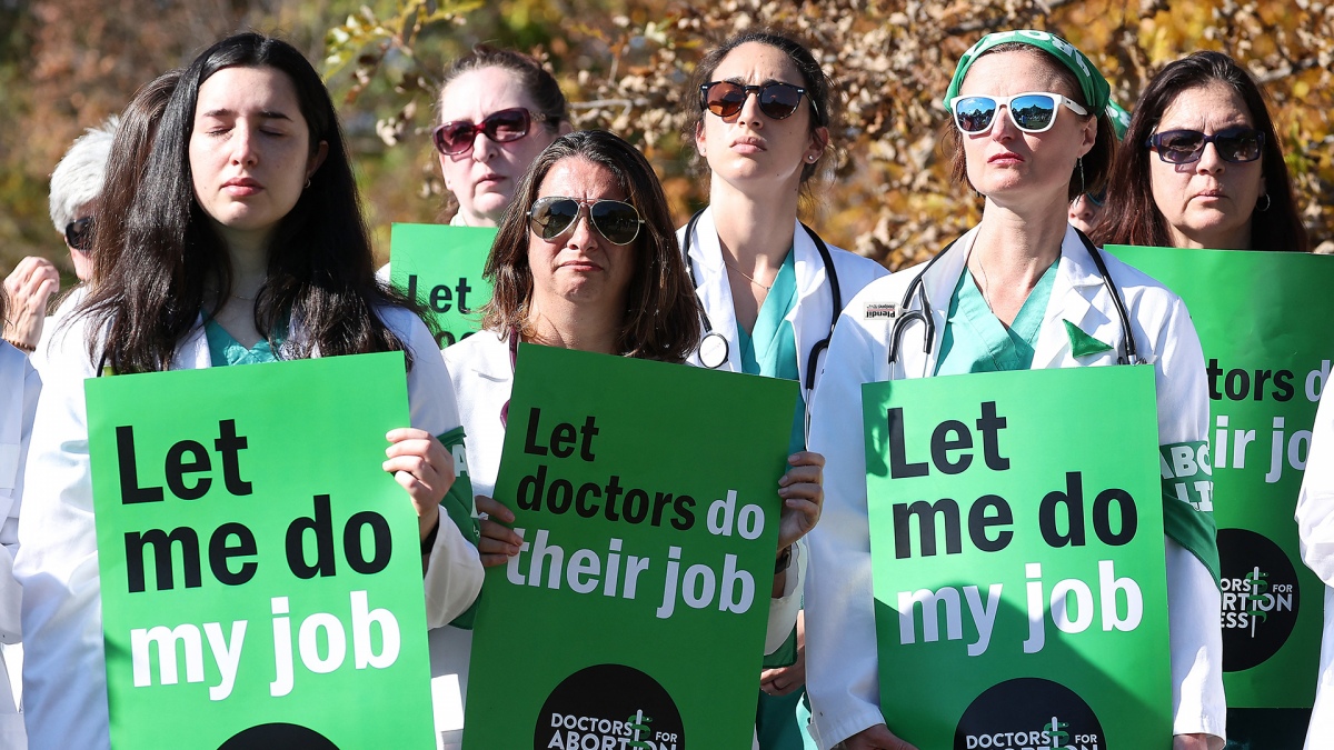
[[[828,247],[798,220],[831,151],[830,89],[804,45],[754,31],[710,51],[687,97],[687,135],[710,173],[710,206],[679,232],[704,308],[706,335],[691,363],[799,382],[792,452],[806,450],[806,406],[843,304],[887,274],[874,260]],[[798,639],[764,666],[760,746],[800,749]]]

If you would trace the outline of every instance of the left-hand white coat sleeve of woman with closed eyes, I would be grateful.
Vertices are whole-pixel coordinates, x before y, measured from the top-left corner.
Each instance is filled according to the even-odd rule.
[[[24,468],[15,577],[23,585],[31,747],[109,746],[81,326],[52,342]]]

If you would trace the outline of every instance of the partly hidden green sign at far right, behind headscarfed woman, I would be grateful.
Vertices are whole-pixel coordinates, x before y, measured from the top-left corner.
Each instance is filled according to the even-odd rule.
[[[1325,586],[1293,512],[1334,356],[1334,258],[1107,248],[1179,294],[1209,376],[1230,707],[1310,707]]]

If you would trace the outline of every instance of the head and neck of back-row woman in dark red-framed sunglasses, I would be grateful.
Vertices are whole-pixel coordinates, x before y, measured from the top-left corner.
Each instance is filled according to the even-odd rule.
[[[479,44],[440,85],[431,143],[460,227],[500,224],[532,160],[570,132],[556,79],[532,57]]]

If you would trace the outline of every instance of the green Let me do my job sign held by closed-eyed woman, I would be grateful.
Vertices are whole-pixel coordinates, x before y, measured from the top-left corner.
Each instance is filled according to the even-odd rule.
[[[403,355],[85,390],[112,747],[432,747]]]

